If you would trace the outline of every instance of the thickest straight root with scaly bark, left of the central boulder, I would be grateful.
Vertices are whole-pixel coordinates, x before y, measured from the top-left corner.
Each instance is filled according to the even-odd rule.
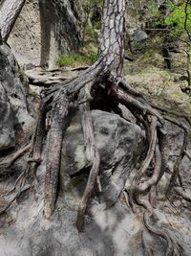
[[[68,113],[68,106],[68,100],[63,98],[62,101],[53,106],[52,110],[52,126],[51,130],[49,131],[47,148],[44,197],[44,216],[47,219],[51,218],[55,204],[64,120]]]

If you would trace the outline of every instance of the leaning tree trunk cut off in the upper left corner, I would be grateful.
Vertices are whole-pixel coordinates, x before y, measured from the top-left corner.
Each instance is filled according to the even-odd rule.
[[[21,12],[25,0],[4,0],[0,4],[0,29],[4,41],[7,41],[11,34],[19,13]]]

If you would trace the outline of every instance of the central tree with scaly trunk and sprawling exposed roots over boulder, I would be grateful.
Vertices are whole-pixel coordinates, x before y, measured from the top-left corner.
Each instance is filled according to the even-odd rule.
[[[166,255],[180,255],[179,246],[175,244],[171,236],[161,229],[155,228],[157,220],[154,207],[157,205],[156,188],[159,179],[167,170],[166,155],[164,150],[165,132],[162,126],[165,120],[183,129],[184,138],[180,150],[180,155],[174,165],[173,174],[170,179],[167,194],[176,185],[180,177],[180,163],[186,155],[191,160],[191,155],[187,151],[188,128],[179,121],[165,117],[160,114],[169,112],[158,106],[149,105],[145,98],[136,89],[131,87],[126,81],[121,79],[121,71],[124,58],[124,38],[125,38],[125,0],[105,0],[103,7],[103,26],[101,29],[101,39],[99,47],[99,57],[91,67],[78,67],[75,70],[83,70],[83,73],[73,79],[66,77],[35,76],[29,74],[30,81],[38,86],[45,86],[42,91],[42,101],[37,119],[36,128],[33,133],[32,145],[15,153],[11,158],[8,167],[23,152],[32,148],[28,166],[17,178],[13,189],[19,185],[21,190],[14,196],[11,201],[0,211],[5,213],[11,207],[11,204],[20,195],[29,190],[31,186],[24,186],[26,178],[32,175],[37,166],[41,163],[41,151],[43,142],[46,137],[46,177],[45,177],[45,196],[44,196],[44,216],[50,219],[57,196],[57,183],[60,168],[60,156],[65,131],[67,111],[70,104],[77,105],[80,109],[81,125],[83,129],[84,140],[86,143],[87,168],[90,169],[88,182],[84,194],[79,203],[77,211],[76,226],[82,231],[85,219],[85,213],[91,198],[96,182],[99,184],[98,172],[100,165],[100,156],[96,147],[91,108],[97,108],[107,111],[114,111],[122,117],[122,111],[119,104],[125,105],[126,108],[134,115],[140,128],[145,129],[148,149],[144,160],[135,175],[130,188],[125,188],[123,195],[128,207],[132,208],[134,213],[137,212],[138,205],[144,207],[146,212],[143,216],[144,229],[142,232],[142,245],[145,255],[155,255],[153,238],[158,236],[166,244]],[[111,22],[112,21],[112,22]],[[53,85],[53,86],[51,86]],[[51,113],[51,122],[46,126],[48,115]],[[179,115],[176,113],[176,115]],[[191,125],[190,120],[186,122]],[[48,133],[48,135],[47,135]],[[1,171],[0,171],[1,174]],[[98,181],[97,181],[98,180]],[[182,182],[180,181],[180,185]],[[22,189],[23,188],[23,189]],[[191,199],[181,192],[177,187],[175,191],[184,199]],[[10,192],[10,193],[11,193]],[[7,194],[7,196],[10,195]]]

